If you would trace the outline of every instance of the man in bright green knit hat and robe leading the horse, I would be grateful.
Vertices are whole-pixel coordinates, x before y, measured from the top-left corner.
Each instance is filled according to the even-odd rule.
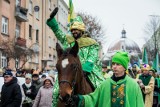
[[[93,93],[73,96],[79,107],[144,107],[138,83],[126,75],[129,57],[117,52],[112,57],[113,76],[106,79]]]

